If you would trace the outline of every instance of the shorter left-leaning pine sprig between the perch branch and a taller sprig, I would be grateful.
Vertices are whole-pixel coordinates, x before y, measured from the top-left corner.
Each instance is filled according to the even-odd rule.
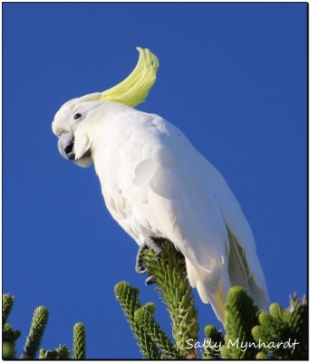
[[[148,303],[134,313],[134,319],[139,323],[141,329],[146,330],[151,340],[161,349],[165,359],[184,359],[177,348],[174,347],[170,338],[160,329],[160,325],[153,317],[155,305]]]

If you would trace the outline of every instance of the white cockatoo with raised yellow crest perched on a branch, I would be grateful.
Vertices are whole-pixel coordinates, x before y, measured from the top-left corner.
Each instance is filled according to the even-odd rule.
[[[233,285],[266,309],[253,234],[225,179],[176,126],[133,108],[159,66],[148,49],[137,49],[139,62],[124,81],[58,110],[52,127],[59,151],[79,166],[94,164],[108,210],[140,251],[159,254],[156,240],[166,238],[182,252],[190,285],[222,323]],[[139,257],[136,270],[143,271]]]

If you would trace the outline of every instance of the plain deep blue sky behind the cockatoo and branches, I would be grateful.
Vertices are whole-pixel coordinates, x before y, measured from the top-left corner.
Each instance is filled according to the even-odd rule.
[[[4,291],[23,336],[34,308],[43,347],[140,357],[114,298],[118,281],[155,301],[134,271],[136,243],[106,210],[93,167],[58,153],[51,122],[66,100],[129,74],[136,46],[160,59],[140,110],[177,125],[225,176],[256,238],[271,300],[306,291],[306,4],[4,4]],[[201,330],[216,323],[199,301]],[[218,325],[219,326],[219,325]],[[201,338],[202,334],[201,334]]]

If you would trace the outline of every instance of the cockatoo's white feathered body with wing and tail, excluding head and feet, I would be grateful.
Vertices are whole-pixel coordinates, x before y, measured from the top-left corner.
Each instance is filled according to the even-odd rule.
[[[224,178],[160,116],[115,105],[96,126],[92,153],[112,216],[142,243],[168,238],[186,258],[189,282],[224,322],[229,288],[269,303],[252,232]]]

